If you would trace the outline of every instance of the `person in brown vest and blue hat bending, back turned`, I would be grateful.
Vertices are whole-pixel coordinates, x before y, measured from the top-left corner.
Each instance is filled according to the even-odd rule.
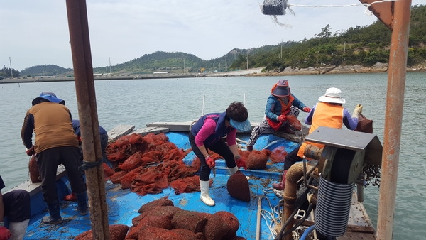
[[[77,210],[87,214],[87,187],[84,172],[79,169],[82,153],[77,135],[72,129],[71,112],[65,101],[53,92],[42,92],[33,99],[33,107],[28,109],[21,129],[26,153],[35,154],[40,170],[43,200],[48,206],[49,216],[43,217],[47,224],[60,224],[60,206],[56,189],[56,171],[63,164],[67,170],[71,190],[77,195]],[[35,133],[33,144],[32,137]]]

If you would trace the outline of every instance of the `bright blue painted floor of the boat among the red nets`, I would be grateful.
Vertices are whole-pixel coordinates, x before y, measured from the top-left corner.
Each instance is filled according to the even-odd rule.
[[[175,143],[179,148],[190,148],[185,133],[167,133],[169,140]],[[249,135],[237,136],[243,141],[247,141]],[[288,152],[297,147],[297,143],[287,141],[273,135],[261,136],[255,149],[261,150],[265,147],[271,151],[278,147],[285,146]],[[185,163],[190,163],[194,157],[193,153],[185,157]],[[226,182],[229,178],[229,173],[224,163],[224,160],[217,160],[217,176],[213,179],[213,185],[210,188],[210,196],[216,202],[216,206],[208,207],[200,200],[200,192],[184,193],[175,195],[172,188],[163,190],[157,195],[138,196],[136,193],[129,190],[121,190],[121,185],[113,184],[109,181],[105,183],[107,192],[107,205],[109,209],[109,224],[126,224],[131,226],[131,220],[137,217],[138,209],[147,202],[157,200],[160,197],[168,196],[173,201],[176,207],[185,210],[196,212],[215,213],[218,211],[227,211],[235,214],[239,219],[241,227],[237,231],[238,236],[243,236],[246,239],[256,239],[256,222],[258,211],[258,197],[262,197],[262,209],[271,212],[271,206],[278,205],[280,198],[273,192],[265,192],[271,190],[271,183],[276,182],[280,178],[283,170],[283,163],[271,164],[268,161],[266,170],[242,170],[245,175],[251,176],[249,185],[251,189],[251,201],[243,202],[229,196],[226,190]],[[271,181],[272,180],[272,181]],[[58,195],[60,199],[64,195],[70,193],[70,187],[67,182],[67,177],[58,180]],[[45,204],[42,200],[41,193],[32,196],[31,210],[32,218],[27,229],[25,239],[74,239],[75,236],[84,231],[91,229],[89,214],[80,216],[77,212],[77,202],[62,201],[60,212],[62,219],[65,220],[60,225],[43,224],[41,219],[46,216]],[[271,204],[270,204],[271,203]],[[278,217],[275,214],[275,217]],[[268,224],[265,219],[261,219],[261,239],[273,239]]]

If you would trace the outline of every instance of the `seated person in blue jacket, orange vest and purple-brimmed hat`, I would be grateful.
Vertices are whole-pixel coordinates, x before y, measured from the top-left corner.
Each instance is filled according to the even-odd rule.
[[[273,85],[271,95],[266,102],[265,117],[251,131],[247,150],[252,151],[253,145],[263,133],[273,133],[274,131],[285,131],[294,134],[295,131],[290,129],[290,123],[287,119],[288,115],[299,116],[299,109],[309,112],[310,108],[306,107],[295,95],[290,92],[287,80],[279,80]]]

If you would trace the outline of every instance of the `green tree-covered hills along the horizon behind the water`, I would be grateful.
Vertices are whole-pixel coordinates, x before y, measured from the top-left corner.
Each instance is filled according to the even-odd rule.
[[[426,65],[426,6],[412,6],[408,48],[408,66]],[[372,66],[388,63],[391,31],[377,20],[370,26],[356,26],[332,33],[327,24],[313,38],[288,41],[260,48],[234,48],[212,60],[182,52],[155,52],[114,66],[94,67],[97,74],[152,74],[170,72],[222,72],[253,67],[282,71],[286,67],[307,68],[329,65]],[[21,72],[10,68],[0,70],[1,77],[67,76],[72,69],[57,65],[28,67]]]

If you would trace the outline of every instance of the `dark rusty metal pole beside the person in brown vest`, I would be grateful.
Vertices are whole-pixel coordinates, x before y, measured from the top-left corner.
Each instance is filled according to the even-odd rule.
[[[83,157],[88,163],[102,163],[86,1],[67,0],[66,3]],[[85,173],[93,239],[110,239],[102,164],[88,168]]]

